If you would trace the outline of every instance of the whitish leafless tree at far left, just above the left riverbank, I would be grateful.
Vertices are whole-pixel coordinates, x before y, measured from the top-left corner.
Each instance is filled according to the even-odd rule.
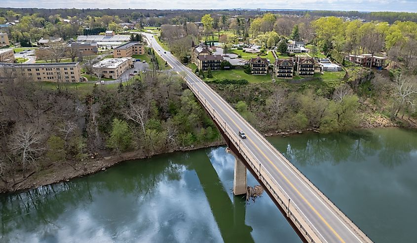
[[[24,177],[26,177],[27,166],[34,164],[39,154],[45,150],[45,147],[41,145],[41,135],[31,127],[19,128],[13,138],[11,148],[17,156],[21,157]]]

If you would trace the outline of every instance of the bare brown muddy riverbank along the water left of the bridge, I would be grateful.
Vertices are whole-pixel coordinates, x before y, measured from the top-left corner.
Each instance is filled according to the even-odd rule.
[[[169,151],[160,151],[154,155],[167,154],[178,151],[190,151],[200,148],[220,146],[225,144],[223,140],[215,141],[201,145],[191,145],[189,147],[179,147],[178,149],[172,149]],[[54,163],[48,168],[39,172],[33,172],[26,178],[16,178],[16,182],[10,182],[8,184],[4,181],[0,181],[0,193],[19,192],[36,188],[39,186],[45,186],[53,183],[59,183],[63,181],[69,181],[78,177],[94,174],[100,171],[105,171],[107,168],[112,167],[118,163],[150,158],[152,156],[144,154],[142,151],[130,151],[120,154],[114,154],[111,156],[98,156],[97,153],[90,154],[88,159],[81,160],[75,165],[70,165],[68,162]]]

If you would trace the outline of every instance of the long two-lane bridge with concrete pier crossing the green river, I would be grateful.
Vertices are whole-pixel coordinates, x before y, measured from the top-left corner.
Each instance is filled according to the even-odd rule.
[[[220,95],[142,33],[158,55],[186,79],[187,86],[214,121],[235,156],[235,195],[246,193],[246,169],[284,214],[303,242],[371,243],[372,241],[272,144]],[[241,139],[238,131],[247,138]]]

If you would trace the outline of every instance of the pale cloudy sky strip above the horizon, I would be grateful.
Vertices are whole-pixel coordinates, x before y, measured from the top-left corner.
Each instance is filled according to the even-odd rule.
[[[0,0],[0,7],[136,9],[312,9],[417,12],[417,0]]]

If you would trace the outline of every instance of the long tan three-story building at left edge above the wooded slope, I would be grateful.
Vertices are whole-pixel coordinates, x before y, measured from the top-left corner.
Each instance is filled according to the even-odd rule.
[[[81,67],[79,63],[30,63],[0,64],[0,76],[24,76],[28,81],[79,82]]]

